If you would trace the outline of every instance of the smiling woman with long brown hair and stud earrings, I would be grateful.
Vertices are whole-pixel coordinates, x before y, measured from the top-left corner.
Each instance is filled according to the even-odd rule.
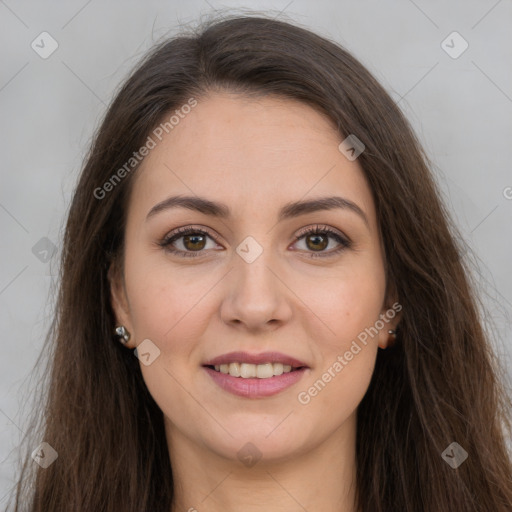
[[[510,401],[456,237],[338,45],[250,17],[159,45],[71,204],[15,510],[510,510]]]

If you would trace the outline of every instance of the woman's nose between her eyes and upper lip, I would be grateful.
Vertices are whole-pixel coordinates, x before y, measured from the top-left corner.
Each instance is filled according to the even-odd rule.
[[[270,250],[264,250],[252,263],[234,255],[234,268],[224,283],[226,291],[220,310],[226,324],[253,332],[271,331],[292,317],[293,293],[269,255]]]

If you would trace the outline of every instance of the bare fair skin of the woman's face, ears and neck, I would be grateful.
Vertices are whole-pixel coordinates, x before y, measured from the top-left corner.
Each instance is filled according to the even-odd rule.
[[[176,489],[171,512],[355,512],[356,410],[377,349],[386,348],[400,315],[367,345],[359,343],[362,350],[309,403],[297,398],[396,301],[385,296],[370,188],[358,161],[339,151],[341,140],[326,117],[303,103],[212,93],[137,171],[124,275],[111,279],[112,303],[131,333],[128,347],[149,339],[160,350],[141,371],[164,414]],[[233,215],[173,208],[146,220],[154,205],[179,194],[223,202]],[[368,226],[350,209],[277,222],[288,202],[332,195],[356,203]],[[315,224],[352,245],[334,254],[340,244],[330,237],[295,241],[301,228]],[[199,257],[158,245],[190,225],[217,237],[199,244]],[[252,263],[235,251],[247,236],[263,249]],[[197,247],[184,244],[182,237],[173,245]],[[319,252],[331,256],[311,257]],[[202,367],[234,350],[279,351],[309,369],[272,397],[235,396]],[[252,467],[237,456],[248,442],[262,456]]]

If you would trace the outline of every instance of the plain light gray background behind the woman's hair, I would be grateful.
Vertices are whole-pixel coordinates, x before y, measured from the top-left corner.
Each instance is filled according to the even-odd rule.
[[[154,42],[226,8],[295,20],[337,40],[399,103],[475,253],[475,277],[497,328],[495,347],[510,372],[510,1],[0,0],[2,509],[23,415],[30,412],[23,409],[31,393],[27,379],[50,322],[61,230],[93,131],[121,80]],[[41,46],[44,31],[59,45],[46,59],[31,47],[34,40]],[[453,31],[469,44],[458,58],[441,46]],[[460,50],[452,39],[450,51]],[[53,257],[45,261],[52,244]]]

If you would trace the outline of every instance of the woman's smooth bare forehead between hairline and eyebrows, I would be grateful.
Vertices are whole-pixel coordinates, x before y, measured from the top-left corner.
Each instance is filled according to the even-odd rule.
[[[132,213],[146,215],[176,194],[221,201],[237,215],[341,195],[374,223],[362,168],[339,151],[342,139],[332,121],[302,102],[213,94],[161,138],[137,171]]]

